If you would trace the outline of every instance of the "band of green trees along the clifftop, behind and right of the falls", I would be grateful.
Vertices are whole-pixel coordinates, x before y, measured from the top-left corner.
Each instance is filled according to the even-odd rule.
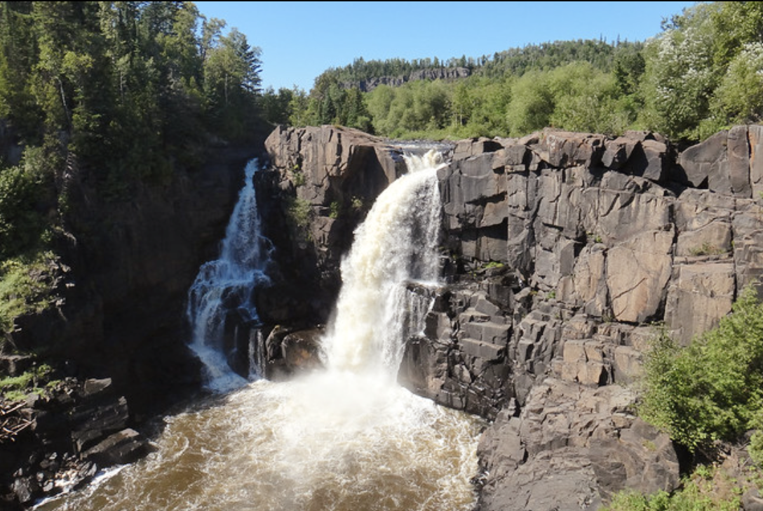
[[[462,66],[452,81],[359,83]],[[763,4],[698,2],[643,42],[557,41],[476,59],[399,59],[327,70],[307,94],[268,89],[270,121],[339,124],[385,137],[519,137],[547,126],[658,131],[697,142],[763,115]]]

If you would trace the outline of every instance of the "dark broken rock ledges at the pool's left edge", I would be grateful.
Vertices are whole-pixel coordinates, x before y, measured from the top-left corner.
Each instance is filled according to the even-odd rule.
[[[0,424],[0,502],[8,509],[80,487],[150,451],[110,379],[66,379],[42,396],[0,403]]]

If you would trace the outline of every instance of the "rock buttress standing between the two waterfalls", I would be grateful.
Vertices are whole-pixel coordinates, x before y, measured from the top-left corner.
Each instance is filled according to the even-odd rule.
[[[284,286],[261,293],[257,310],[272,325],[324,324],[353,231],[378,194],[404,172],[402,150],[337,127],[277,128],[265,145],[272,171],[256,175],[257,201],[267,218],[263,234],[278,260],[274,281]]]

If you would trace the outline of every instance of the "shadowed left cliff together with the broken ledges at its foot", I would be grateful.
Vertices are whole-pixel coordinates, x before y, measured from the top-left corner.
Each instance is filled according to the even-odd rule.
[[[124,199],[101,196],[95,176],[74,161],[61,170],[56,184],[69,209],[60,299],[18,318],[11,338],[55,365],[59,383],[26,403],[0,399],[0,507],[55,494],[62,477],[87,480],[134,460],[147,442],[133,428],[198,390],[188,288],[217,255],[244,165],[258,153],[218,148],[206,163],[179,165],[166,183],[137,185]],[[0,377],[35,363],[2,354]]]

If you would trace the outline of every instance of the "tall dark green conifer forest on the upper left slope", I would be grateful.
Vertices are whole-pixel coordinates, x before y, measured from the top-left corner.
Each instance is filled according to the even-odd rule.
[[[2,2],[0,115],[27,144],[62,141],[107,189],[166,183],[202,141],[259,123],[259,48],[202,20],[192,2]]]

